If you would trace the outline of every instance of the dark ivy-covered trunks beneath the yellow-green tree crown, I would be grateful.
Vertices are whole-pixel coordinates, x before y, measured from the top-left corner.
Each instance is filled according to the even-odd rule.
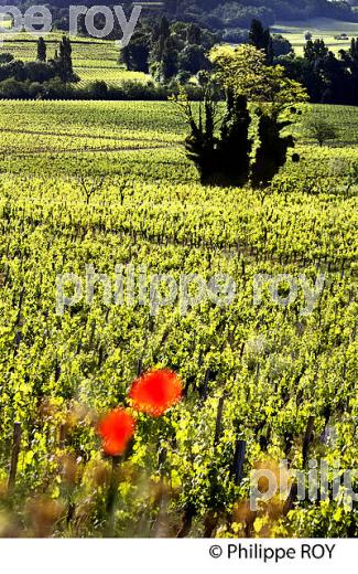
[[[203,184],[242,187],[250,182],[253,189],[265,188],[286,162],[289,148],[294,148],[293,136],[282,135],[282,130],[294,123],[293,116],[301,115],[295,107],[284,119],[278,110],[260,108],[256,111],[259,116],[258,146],[251,162],[253,141],[249,134],[251,116],[246,96],[229,92],[225,116],[219,120],[217,102],[207,87],[198,119],[191,102],[176,98],[176,103],[191,128],[185,140],[186,156],[194,162]],[[299,162],[300,156],[294,153],[292,160]]]

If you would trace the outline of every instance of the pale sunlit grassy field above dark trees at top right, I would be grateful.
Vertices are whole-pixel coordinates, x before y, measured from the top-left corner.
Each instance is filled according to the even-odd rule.
[[[312,32],[313,40],[323,39],[329,50],[336,54],[338,54],[339,50],[349,49],[351,38],[358,38],[358,23],[341,22],[328,18],[314,18],[297,22],[276,22],[271,30],[290,40],[297,55],[303,55],[303,46],[305,45],[304,33],[307,30]],[[335,39],[335,36],[341,33],[346,33],[349,40]]]

